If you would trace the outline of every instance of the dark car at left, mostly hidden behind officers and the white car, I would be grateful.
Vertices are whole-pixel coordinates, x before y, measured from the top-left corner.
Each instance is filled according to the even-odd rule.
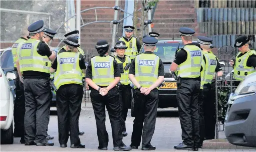
[[[58,48],[55,48],[54,51],[57,54]],[[6,74],[7,72],[13,72],[14,71],[14,59],[13,59],[13,54],[12,54],[12,48],[7,48],[1,55],[1,67],[4,71],[4,73]],[[15,95],[15,83],[14,80],[9,80],[10,82],[10,86],[12,88],[13,91],[13,95],[14,95],[14,99],[16,97]],[[56,107],[56,95],[53,92],[53,98],[52,98],[52,103],[51,103],[51,107]]]

